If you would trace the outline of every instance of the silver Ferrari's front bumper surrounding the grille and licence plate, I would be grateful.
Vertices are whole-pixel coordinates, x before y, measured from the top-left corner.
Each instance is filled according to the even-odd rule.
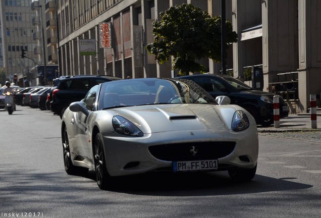
[[[209,158],[219,161],[220,170],[229,168],[254,168],[258,157],[258,136],[256,126],[242,132],[232,130],[191,130],[174,131],[166,133],[152,133],[143,137],[123,137],[113,132],[102,132],[104,140],[104,153],[106,168],[111,176],[125,176],[141,174],[149,171],[166,170],[172,171],[172,161],[184,161],[193,158],[195,160],[204,159],[204,156],[188,157],[185,155],[172,155],[170,158],[163,158],[150,149],[155,146],[176,147],[183,145],[176,150],[182,149],[187,154],[192,146],[196,146],[199,151],[202,149],[200,143],[213,144],[213,146],[227,143],[234,143],[235,147],[230,148],[228,154],[216,156],[215,152],[209,153]],[[215,145],[214,145],[215,144]],[[185,150],[183,150],[185,149]],[[187,150],[186,150],[187,149]],[[172,152],[168,149],[165,152]],[[200,159],[198,159],[200,158]],[[206,157],[207,158],[207,157]]]

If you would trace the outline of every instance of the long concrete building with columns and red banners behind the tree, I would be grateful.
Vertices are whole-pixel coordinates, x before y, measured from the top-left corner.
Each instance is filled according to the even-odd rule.
[[[229,74],[282,95],[292,113],[307,112],[309,95],[321,92],[321,2],[316,0],[56,0],[60,74],[176,76],[171,62],[159,65],[145,49],[153,39],[152,22],[183,3],[221,15],[222,2],[238,33],[238,42],[227,50]],[[199,62],[210,73],[221,73],[221,63]]]

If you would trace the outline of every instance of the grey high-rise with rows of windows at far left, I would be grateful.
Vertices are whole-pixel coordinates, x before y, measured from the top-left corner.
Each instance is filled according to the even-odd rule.
[[[6,79],[12,80],[14,75],[21,75],[20,86],[24,86],[24,82],[28,83],[34,78],[34,75],[28,74],[28,69],[35,63],[35,55],[32,51],[36,46],[32,38],[34,15],[30,10],[30,5],[31,0],[2,0],[0,2],[2,67],[7,73]],[[29,59],[21,57],[23,49]]]

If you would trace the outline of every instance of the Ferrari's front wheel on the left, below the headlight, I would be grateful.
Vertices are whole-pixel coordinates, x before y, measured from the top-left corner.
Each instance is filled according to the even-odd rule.
[[[94,160],[96,181],[100,189],[105,190],[111,182],[111,176],[106,169],[106,161],[103,150],[103,139],[101,133],[97,133],[94,143]]]

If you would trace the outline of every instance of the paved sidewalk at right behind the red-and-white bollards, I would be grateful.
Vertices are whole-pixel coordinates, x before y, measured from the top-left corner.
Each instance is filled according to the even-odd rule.
[[[274,124],[268,127],[257,126],[258,132],[300,132],[300,131],[321,131],[321,114],[316,116],[316,129],[311,128],[310,114],[289,115],[286,119],[280,119],[280,128]],[[321,136],[320,136],[321,137]]]

